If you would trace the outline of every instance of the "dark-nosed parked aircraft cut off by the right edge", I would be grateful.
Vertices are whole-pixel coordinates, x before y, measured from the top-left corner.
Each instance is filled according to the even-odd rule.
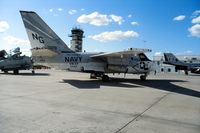
[[[170,64],[175,66],[175,70],[184,70],[185,74],[188,75],[188,71],[191,73],[200,74],[200,63],[187,63],[180,61],[172,53],[164,53],[165,64]]]

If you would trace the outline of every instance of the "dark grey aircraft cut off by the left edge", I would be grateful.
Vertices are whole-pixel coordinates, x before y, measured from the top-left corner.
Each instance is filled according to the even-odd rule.
[[[33,62],[28,56],[20,56],[20,48],[16,48],[13,54],[8,54],[5,50],[0,51],[0,69],[1,71],[7,73],[8,71],[13,71],[14,74],[18,74],[19,70],[29,70],[32,69]],[[34,70],[32,70],[34,73]]]

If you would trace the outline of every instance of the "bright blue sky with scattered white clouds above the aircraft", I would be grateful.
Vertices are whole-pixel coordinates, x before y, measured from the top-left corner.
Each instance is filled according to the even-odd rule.
[[[37,12],[67,45],[71,28],[80,26],[88,52],[200,54],[199,0],[0,0],[0,49],[19,46],[28,54],[19,10]]]

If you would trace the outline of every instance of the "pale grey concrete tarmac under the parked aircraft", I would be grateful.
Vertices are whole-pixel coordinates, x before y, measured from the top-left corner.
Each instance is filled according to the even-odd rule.
[[[0,73],[0,133],[200,133],[200,75]]]

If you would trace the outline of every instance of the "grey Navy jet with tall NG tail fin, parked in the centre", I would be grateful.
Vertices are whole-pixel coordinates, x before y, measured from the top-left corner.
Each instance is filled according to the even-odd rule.
[[[56,33],[33,11],[20,11],[31,42],[34,63],[69,71],[90,73],[90,78],[108,81],[108,73],[139,74],[146,80],[153,62],[144,52],[150,49],[130,48],[113,53],[88,53],[71,50]]]

